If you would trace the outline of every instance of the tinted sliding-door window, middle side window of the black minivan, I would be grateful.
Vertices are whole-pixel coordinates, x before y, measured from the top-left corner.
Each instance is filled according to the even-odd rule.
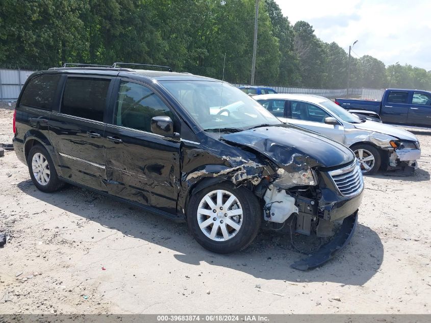
[[[110,82],[109,79],[68,78],[60,111],[81,118],[103,121]]]

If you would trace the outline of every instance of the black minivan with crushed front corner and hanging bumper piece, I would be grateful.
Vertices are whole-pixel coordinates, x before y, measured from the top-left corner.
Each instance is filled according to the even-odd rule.
[[[187,221],[206,249],[244,249],[260,228],[351,238],[363,178],[349,148],[284,125],[229,83],[115,67],[33,73],[14,114],[14,148],[34,185],[78,185]],[[332,243],[332,244],[331,244]]]

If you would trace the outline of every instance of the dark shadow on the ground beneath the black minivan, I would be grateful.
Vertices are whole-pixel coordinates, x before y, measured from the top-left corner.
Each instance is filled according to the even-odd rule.
[[[379,271],[384,256],[383,244],[378,235],[358,223],[350,244],[334,259],[318,269],[303,272],[290,268],[294,261],[307,257],[293,249],[290,235],[262,232],[246,250],[219,255],[208,252],[194,241],[188,233],[186,223],[174,223],[72,186],[52,194],[37,190],[31,180],[20,182],[18,187],[44,203],[100,223],[106,228],[118,230],[126,236],[168,248],[176,253],[173,257],[177,261],[191,266],[206,262],[266,280],[296,282],[301,277],[309,281],[364,285]]]

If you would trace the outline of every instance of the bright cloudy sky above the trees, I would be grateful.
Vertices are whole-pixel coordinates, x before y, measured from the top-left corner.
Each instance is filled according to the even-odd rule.
[[[431,70],[431,0],[275,0],[294,24],[310,23],[317,37],[353,57],[371,55]]]

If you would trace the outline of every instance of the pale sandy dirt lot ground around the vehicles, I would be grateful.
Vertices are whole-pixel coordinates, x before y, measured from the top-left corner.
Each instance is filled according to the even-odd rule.
[[[0,142],[11,142],[12,113],[0,108]],[[289,236],[212,254],[185,224],[71,186],[42,193],[6,152],[0,312],[431,313],[431,132],[418,138],[420,169],[367,177],[350,244],[308,272],[289,267],[301,257]]]

